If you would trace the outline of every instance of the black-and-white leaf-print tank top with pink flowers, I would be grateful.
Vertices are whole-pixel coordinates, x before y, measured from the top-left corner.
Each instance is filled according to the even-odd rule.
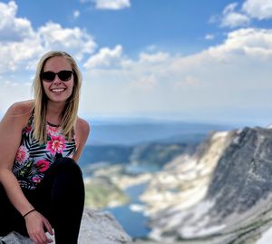
[[[75,136],[68,141],[61,128],[49,122],[46,124],[47,140],[43,145],[34,139],[34,114],[22,132],[21,145],[18,148],[13,173],[22,188],[34,190],[44,179],[45,172],[59,158],[73,158],[76,151]]]

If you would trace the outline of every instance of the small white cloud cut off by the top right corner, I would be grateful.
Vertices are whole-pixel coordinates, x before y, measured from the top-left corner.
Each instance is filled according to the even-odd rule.
[[[242,9],[252,18],[259,20],[272,18],[271,0],[247,0]]]

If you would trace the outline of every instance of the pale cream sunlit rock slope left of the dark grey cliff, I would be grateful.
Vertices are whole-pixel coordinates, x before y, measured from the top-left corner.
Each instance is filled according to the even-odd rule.
[[[223,151],[231,142],[231,133],[213,132],[193,154],[181,154],[153,176],[141,196],[151,216],[175,208],[185,210],[207,194],[211,175]]]

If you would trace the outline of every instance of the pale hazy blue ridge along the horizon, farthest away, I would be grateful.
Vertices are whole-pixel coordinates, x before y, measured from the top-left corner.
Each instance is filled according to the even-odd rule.
[[[190,122],[90,122],[87,144],[135,145],[143,142],[199,142],[211,131],[229,131],[229,125]]]

